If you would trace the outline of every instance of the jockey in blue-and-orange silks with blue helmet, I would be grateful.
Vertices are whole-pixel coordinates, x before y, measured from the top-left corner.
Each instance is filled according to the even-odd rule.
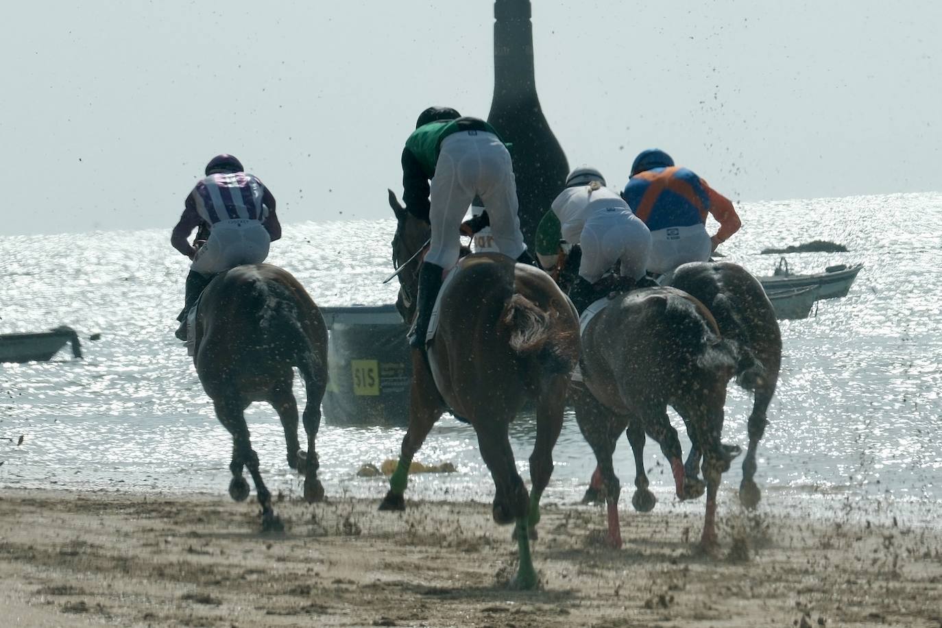
[[[741,224],[729,199],[691,170],[674,166],[671,155],[659,149],[635,158],[622,198],[651,230],[648,270],[656,274],[687,262],[706,262]],[[720,223],[712,237],[707,235],[707,214]]]

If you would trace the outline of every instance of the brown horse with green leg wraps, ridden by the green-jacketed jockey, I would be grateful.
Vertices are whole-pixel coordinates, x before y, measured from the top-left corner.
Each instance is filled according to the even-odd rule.
[[[416,220],[397,214],[398,250]],[[409,427],[381,510],[405,508],[409,465],[445,411],[470,423],[491,471],[496,523],[515,523],[520,565],[512,585],[534,588],[529,539],[540,520],[540,497],[553,473],[553,446],[562,428],[570,373],[579,355],[572,303],[543,271],[496,253],[463,257],[442,287],[438,328],[427,353],[414,349]],[[400,288],[401,291],[402,288]],[[529,458],[532,488],[517,473],[508,427],[526,400],[536,407],[537,434]]]

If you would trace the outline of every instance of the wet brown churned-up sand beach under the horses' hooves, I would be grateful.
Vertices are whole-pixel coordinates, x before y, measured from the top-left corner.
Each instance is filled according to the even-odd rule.
[[[12,626],[942,626],[942,530],[623,507],[546,507],[536,591],[507,587],[490,506],[334,499],[276,505],[133,492],[0,492],[0,624]],[[623,500],[630,508],[629,500]]]

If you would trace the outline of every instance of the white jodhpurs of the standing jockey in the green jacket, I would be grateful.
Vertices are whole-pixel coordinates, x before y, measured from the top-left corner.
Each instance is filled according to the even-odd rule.
[[[459,131],[442,141],[431,179],[431,246],[426,262],[446,270],[458,262],[459,229],[475,195],[491,219],[496,250],[513,259],[527,250],[517,217],[511,154],[493,133]]]

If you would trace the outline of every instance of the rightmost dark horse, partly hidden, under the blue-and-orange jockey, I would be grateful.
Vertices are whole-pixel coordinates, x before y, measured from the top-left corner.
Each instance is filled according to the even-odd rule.
[[[739,502],[749,508],[761,499],[755,484],[755,450],[769,425],[769,409],[782,362],[782,332],[762,284],[745,268],[729,262],[694,262],[674,271],[671,285],[703,302],[723,334],[739,353],[736,378],[754,395],[749,415],[749,447],[742,461]],[[699,452],[690,450],[688,475],[696,476]]]

